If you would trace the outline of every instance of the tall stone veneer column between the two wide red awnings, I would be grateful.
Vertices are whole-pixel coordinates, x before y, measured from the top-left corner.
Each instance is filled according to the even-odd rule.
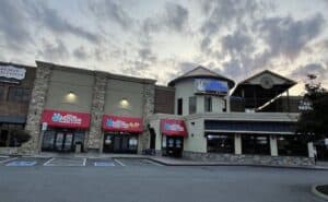
[[[87,148],[91,150],[101,150],[106,84],[106,75],[103,73],[95,73],[95,83],[93,86],[93,98],[91,106],[91,122],[87,139]]]

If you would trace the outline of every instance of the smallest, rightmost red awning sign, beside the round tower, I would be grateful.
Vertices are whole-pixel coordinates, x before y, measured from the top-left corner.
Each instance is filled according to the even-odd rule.
[[[166,135],[186,136],[187,128],[185,121],[177,119],[162,119],[161,131]]]

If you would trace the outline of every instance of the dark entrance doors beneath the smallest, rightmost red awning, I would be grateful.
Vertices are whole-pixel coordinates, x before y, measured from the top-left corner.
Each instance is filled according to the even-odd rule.
[[[184,151],[184,138],[166,136],[166,150],[168,156],[181,157]]]

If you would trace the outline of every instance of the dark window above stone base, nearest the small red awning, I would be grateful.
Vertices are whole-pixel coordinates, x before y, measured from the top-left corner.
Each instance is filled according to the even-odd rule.
[[[234,135],[208,134],[209,153],[234,153]]]

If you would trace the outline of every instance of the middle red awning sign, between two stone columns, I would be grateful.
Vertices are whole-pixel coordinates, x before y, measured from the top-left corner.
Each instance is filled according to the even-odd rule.
[[[107,131],[142,132],[142,119],[104,115],[103,129]]]

